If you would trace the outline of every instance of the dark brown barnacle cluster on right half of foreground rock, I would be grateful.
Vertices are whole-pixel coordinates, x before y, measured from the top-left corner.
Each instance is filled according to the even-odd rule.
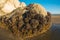
[[[23,34],[28,33],[35,34],[42,31],[42,28],[51,22],[51,16],[48,13],[46,17],[40,14],[32,13],[30,11],[23,14],[23,26],[21,26],[20,31]]]

